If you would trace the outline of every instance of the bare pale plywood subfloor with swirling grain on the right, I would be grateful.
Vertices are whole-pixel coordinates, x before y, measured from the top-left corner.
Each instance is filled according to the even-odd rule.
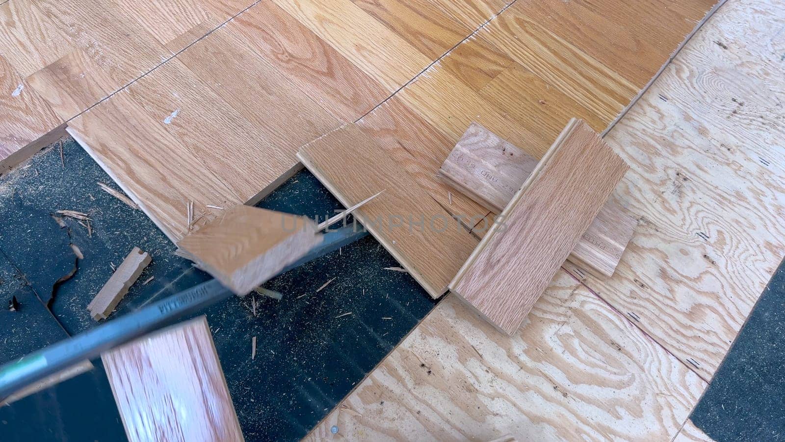
[[[312,436],[699,440],[687,415],[785,254],[782,17],[729,0],[608,134],[639,219],[613,278],[566,267],[512,338],[448,296]]]

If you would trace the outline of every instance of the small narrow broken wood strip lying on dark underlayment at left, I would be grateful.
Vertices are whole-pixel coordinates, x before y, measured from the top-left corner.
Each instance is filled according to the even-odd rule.
[[[128,289],[137,281],[144,267],[147,267],[151,260],[148,252],[142,252],[138,247],[131,250],[96,297],[87,304],[87,310],[90,311],[93,319],[107,319],[111,315],[111,311],[115,310],[122,297],[126,296]]]

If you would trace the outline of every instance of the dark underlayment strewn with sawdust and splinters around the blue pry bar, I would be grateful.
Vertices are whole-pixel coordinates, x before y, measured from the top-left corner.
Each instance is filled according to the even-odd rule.
[[[143,212],[97,182],[118,189],[70,138],[62,160],[56,143],[0,178],[0,363],[97,326],[86,306],[110,263],[133,246],[153,260],[109,320],[208,278],[174,255]],[[308,171],[257,205],[320,219],[341,208]],[[60,227],[52,216],[63,209],[88,214],[89,230],[68,217]],[[266,283],[283,293],[280,301],[234,297],[203,312],[246,440],[305,436],[433,308],[411,276],[384,270],[399,265],[369,236]],[[13,297],[19,311],[5,308]],[[124,439],[100,360],[93,363],[95,370],[0,408],[0,440]]]

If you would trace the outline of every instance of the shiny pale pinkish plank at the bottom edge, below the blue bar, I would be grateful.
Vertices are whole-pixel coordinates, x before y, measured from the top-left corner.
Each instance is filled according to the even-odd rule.
[[[101,355],[131,442],[243,440],[204,316]]]

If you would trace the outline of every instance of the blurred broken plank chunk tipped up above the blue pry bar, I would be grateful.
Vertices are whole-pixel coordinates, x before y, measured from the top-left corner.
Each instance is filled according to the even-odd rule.
[[[238,204],[183,238],[177,254],[243,296],[318,245],[316,233],[305,216]]]

